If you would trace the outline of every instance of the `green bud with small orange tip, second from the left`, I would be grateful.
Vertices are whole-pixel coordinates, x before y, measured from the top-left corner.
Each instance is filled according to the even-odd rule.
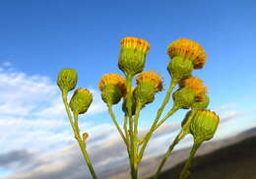
[[[93,94],[88,89],[77,89],[71,97],[69,106],[74,113],[84,114],[92,101]]]

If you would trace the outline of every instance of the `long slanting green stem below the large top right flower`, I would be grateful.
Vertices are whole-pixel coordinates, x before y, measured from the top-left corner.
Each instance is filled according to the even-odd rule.
[[[144,151],[145,151],[145,149],[146,149],[146,147],[147,147],[147,145],[148,145],[148,143],[149,143],[149,141],[150,141],[150,138],[151,138],[153,132],[155,131],[155,128],[156,128],[158,122],[159,122],[161,112],[162,112],[162,110],[164,109],[164,107],[165,107],[165,105],[167,104],[167,102],[169,101],[169,97],[170,97],[171,91],[175,88],[175,86],[176,86],[176,82],[175,82],[174,80],[171,80],[170,86],[169,86],[169,88],[167,89],[167,92],[166,92],[166,94],[165,94],[165,97],[164,97],[164,99],[163,99],[163,101],[162,101],[162,103],[161,103],[161,105],[160,105],[160,109],[158,110],[157,117],[156,117],[156,119],[155,119],[155,121],[154,121],[154,123],[153,123],[153,125],[152,125],[152,127],[151,127],[151,129],[150,129],[150,131],[149,131],[149,133],[146,135],[145,141],[144,141],[144,143],[143,143],[143,147],[142,147],[142,149],[140,150],[140,153],[139,153],[139,161],[141,161],[141,159],[142,159],[142,157],[143,157]]]

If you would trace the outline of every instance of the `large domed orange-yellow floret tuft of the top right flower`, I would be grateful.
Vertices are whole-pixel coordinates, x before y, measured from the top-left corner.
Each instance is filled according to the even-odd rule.
[[[195,41],[187,38],[178,38],[168,46],[168,55],[173,58],[174,56],[184,56],[193,61],[194,69],[201,69],[205,65],[207,55],[203,47]]]

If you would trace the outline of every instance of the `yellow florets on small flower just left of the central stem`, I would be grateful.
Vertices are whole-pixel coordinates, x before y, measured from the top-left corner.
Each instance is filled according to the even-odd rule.
[[[126,83],[125,80],[117,74],[105,74],[102,76],[98,88],[102,91],[106,86],[117,86],[121,89],[122,95],[126,94]]]

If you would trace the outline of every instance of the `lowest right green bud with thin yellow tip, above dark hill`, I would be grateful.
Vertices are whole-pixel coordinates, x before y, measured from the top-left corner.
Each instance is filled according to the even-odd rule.
[[[193,116],[190,133],[194,136],[195,141],[211,140],[218,128],[220,118],[210,110],[197,110]]]

